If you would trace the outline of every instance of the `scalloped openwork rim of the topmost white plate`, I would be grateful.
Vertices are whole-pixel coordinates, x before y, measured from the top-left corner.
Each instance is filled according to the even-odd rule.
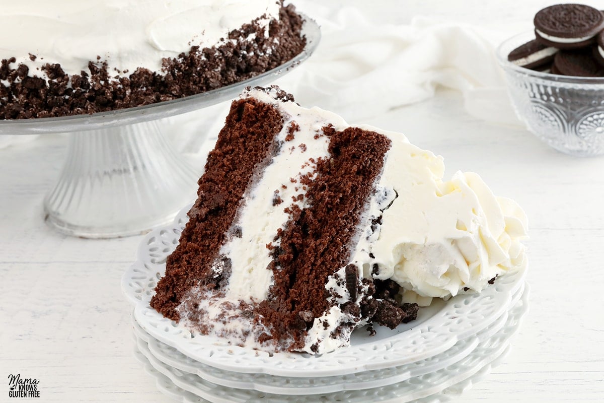
[[[457,295],[457,297],[451,298],[448,301],[446,301],[445,305],[439,312],[437,312],[432,317],[430,317],[427,320],[420,323],[419,327],[413,327],[409,330],[406,330],[405,332],[402,332],[400,334],[390,336],[387,339],[381,340],[381,342],[383,343],[382,344],[383,346],[388,346],[388,344],[390,344],[390,348],[393,348],[393,344],[400,343],[401,338],[403,338],[403,337],[411,337],[412,335],[416,336],[418,332],[420,334],[431,333],[431,332],[434,333],[435,329],[439,329],[438,320],[439,320],[440,316],[445,315],[445,313],[444,313],[445,308],[451,307],[452,305],[454,305],[457,302],[462,302],[462,301],[466,300],[466,298],[477,298],[477,299],[487,298],[489,296],[489,292],[490,292],[490,294],[495,294],[492,296],[493,298],[494,297],[500,298],[500,300],[498,300],[498,302],[499,302],[498,308],[495,309],[494,312],[492,312],[491,317],[484,318],[483,320],[478,321],[477,324],[472,324],[472,326],[469,326],[466,330],[457,332],[455,334],[449,334],[449,337],[446,339],[446,341],[439,343],[438,346],[433,346],[431,350],[422,350],[418,353],[405,353],[404,356],[396,356],[396,358],[390,356],[387,359],[383,359],[379,362],[371,362],[371,361],[367,362],[367,360],[365,360],[364,363],[352,363],[351,364],[352,367],[347,367],[347,368],[344,368],[343,366],[339,366],[339,367],[336,366],[335,369],[333,369],[333,368],[326,369],[324,367],[315,366],[313,368],[304,367],[303,369],[302,368],[298,369],[297,367],[295,367],[295,369],[292,369],[292,368],[286,369],[282,366],[275,366],[275,364],[280,364],[281,361],[283,361],[283,362],[288,362],[288,361],[292,361],[292,360],[297,361],[297,359],[295,357],[304,357],[305,361],[307,361],[309,358],[305,357],[304,355],[297,354],[297,353],[275,353],[274,355],[269,357],[268,355],[266,355],[265,352],[257,352],[256,350],[246,349],[245,347],[217,346],[216,343],[220,343],[220,340],[217,340],[216,338],[212,338],[212,337],[207,337],[207,336],[198,335],[195,338],[191,339],[190,334],[189,334],[189,336],[187,338],[184,338],[184,337],[176,338],[176,337],[174,337],[175,335],[169,334],[166,331],[160,331],[156,327],[150,326],[149,322],[147,321],[146,315],[144,315],[144,313],[141,311],[146,311],[150,315],[155,315],[155,317],[153,318],[153,320],[155,320],[155,321],[169,321],[173,328],[177,328],[178,325],[175,322],[167,320],[167,318],[162,317],[158,312],[156,312],[154,309],[150,308],[150,306],[148,305],[148,301],[139,300],[135,295],[130,294],[130,291],[132,291],[132,286],[130,285],[130,282],[132,280],[133,270],[135,268],[137,268],[138,265],[140,265],[141,263],[143,263],[143,266],[145,265],[145,263],[148,265],[152,265],[152,266],[164,266],[162,269],[156,270],[156,274],[158,274],[158,273],[163,274],[163,271],[165,270],[165,264],[164,263],[153,263],[152,259],[150,259],[149,249],[148,249],[150,240],[153,239],[153,237],[155,237],[157,239],[161,239],[162,232],[167,233],[167,234],[170,234],[171,232],[173,234],[176,234],[177,232],[180,233],[182,225],[179,225],[178,223],[181,220],[184,224],[187,222],[187,220],[188,220],[187,212],[188,212],[188,210],[190,210],[191,205],[192,205],[192,203],[188,204],[187,206],[182,208],[182,210],[176,215],[172,224],[166,225],[164,227],[156,228],[155,230],[150,231],[150,233],[148,233],[148,234],[146,234],[146,236],[144,236],[143,240],[141,240],[141,242],[137,248],[137,259],[135,260],[135,262],[132,265],[130,265],[130,268],[124,273],[121,284],[122,284],[123,292],[126,295],[127,299],[130,301],[130,303],[135,303],[134,315],[137,318],[137,322],[140,324],[141,327],[143,327],[143,329],[146,332],[153,335],[153,337],[155,337],[156,339],[162,341],[162,343],[168,344],[169,346],[172,346],[172,347],[178,349],[181,353],[184,353],[185,355],[190,356],[191,358],[196,359],[196,360],[200,361],[201,363],[208,364],[210,366],[214,366],[214,367],[217,367],[217,368],[220,368],[223,370],[230,370],[230,371],[241,372],[241,373],[267,373],[268,375],[282,375],[282,376],[292,376],[292,377],[307,376],[307,373],[309,372],[309,370],[312,370],[312,372],[316,373],[317,376],[333,376],[333,375],[345,375],[347,373],[361,372],[364,370],[381,369],[381,368],[390,367],[390,366],[400,366],[403,364],[408,364],[408,363],[411,363],[414,361],[418,361],[420,359],[428,358],[429,356],[436,355],[438,353],[442,353],[446,349],[449,349],[450,347],[454,346],[455,343],[462,340],[463,338],[469,337],[470,335],[480,332],[481,330],[483,330],[484,328],[489,326],[490,323],[495,321],[496,318],[500,317],[500,315],[503,314],[503,312],[505,311],[506,306],[509,305],[510,298],[512,297],[514,292],[516,292],[518,290],[518,288],[521,286],[521,284],[523,282],[522,280],[524,280],[525,274],[527,272],[526,266],[524,266],[522,268],[519,268],[515,272],[510,272],[510,273],[506,274],[506,276],[501,276],[500,280],[498,280],[498,282],[495,283],[495,286],[485,289],[481,294]],[[178,238],[176,239],[176,241],[178,241]],[[178,242],[176,242],[176,243],[178,243]],[[175,245],[175,243],[172,242],[172,245]],[[509,286],[507,288],[504,287],[504,288],[506,288],[506,292],[495,293],[495,291],[493,291],[493,290],[496,290],[498,288],[498,286],[501,285],[502,282],[512,279],[512,276],[514,276],[513,282],[511,284],[507,284],[507,283],[504,284],[504,285]],[[463,305],[463,303],[461,305]],[[481,308],[482,304],[478,304],[478,306],[479,306],[479,308]],[[164,324],[164,326],[167,326],[167,324]],[[187,334],[188,331],[185,330],[183,327],[180,327],[180,329],[181,329],[181,333]],[[376,343],[370,343],[370,344],[376,344]],[[194,348],[194,347],[197,347],[197,348]],[[208,349],[208,348],[214,348],[214,349],[219,349],[219,350],[226,349],[228,351],[227,351],[226,356],[224,354],[222,354],[220,356],[220,358],[222,358],[222,359],[218,360],[216,358],[212,359],[216,355],[215,353],[212,353],[211,356],[200,355],[199,350],[198,350],[200,347],[202,350]],[[342,359],[342,355],[349,355],[349,357],[350,357],[350,355],[353,355],[355,352],[362,353],[362,350],[355,351],[355,347],[359,347],[359,346],[345,347],[343,349],[338,349],[338,350],[335,350],[334,352],[327,353],[322,356],[330,356],[330,358],[333,358],[333,359]],[[251,355],[248,354],[249,352],[252,352],[252,354]],[[260,360],[257,363],[246,362],[245,366],[242,366],[242,364],[240,364],[239,362],[236,362],[237,357],[242,356],[242,355],[246,355],[248,358],[250,356],[259,357],[259,356],[266,355],[265,358],[271,360],[271,363],[273,365],[267,366],[268,363]],[[236,357],[235,361],[233,363],[225,364],[224,358],[226,358],[228,356]],[[321,356],[313,356],[313,357],[321,357]],[[278,362],[275,363],[275,361],[277,361],[277,360],[278,360]],[[300,361],[300,358],[298,358],[298,361]],[[316,359],[315,361],[321,362],[320,359]],[[304,364],[306,364],[306,362]],[[293,365],[296,366],[297,364],[294,363]]]

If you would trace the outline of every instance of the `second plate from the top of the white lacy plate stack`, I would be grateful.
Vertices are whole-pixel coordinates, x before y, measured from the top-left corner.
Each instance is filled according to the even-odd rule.
[[[524,286],[516,291],[512,298],[509,309],[515,306],[522,297]],[[524,294],[524,298],[528,296]],[[526,306],[526,305],[525,305]],[[443,369],[451,364],[457,363],[468,356],[482,341],[489,340],[497,334],[507,323],[508,313],[504,312],[500,318],[495,320],[482,332],[458,341],[455,346],[439,355],[426,358],[415,363],[382,370],[371,370],[358,372],[343,376],[325,376],[314,378],[290,378],[285,376],[271,376],[263,373],[242,374],[216,369],[205,364],[194,361],[180,353],[173,347],[161,343],[147,334],[137,323],[133,321],[134,334],[140,339],[140,343],[146,343],[149,352],[165,366],[174,367],[183,372],[193,373],[205,381],[221,385],[223,387],[251,389],[259,392],[275,393],[280,395],[310,395],[321,393],[341,392],[343,390],[360,390],[376,388],[407,379],[426,375]]]

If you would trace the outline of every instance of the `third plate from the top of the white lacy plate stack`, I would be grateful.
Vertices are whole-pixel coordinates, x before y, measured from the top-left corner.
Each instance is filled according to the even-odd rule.
[[[468,356],[457,363],[451,364],[444,369],[437,370],[422,376],[416,376],[403,382],[398,382],[384,387],[370,388],[365,390],[354,390],[336,393],[326,393],[323,395],[277,395],[271,393],[257,392],[254,390],[241,390],[226,388],[212,382],[205,381],[199,376],[191,373],[181,372],[170,366],[161,363],[150,353],[147,343],[138,340],[138,349],[145,356],[147,361],[156,371],[162,373],[177,387],[192,393],[198,398],[205,399],[214,403],[281,403],[297,402],[309,403],[316,401],[340,401],[349,403],[365,402],[391,402],[403,403],[416,399],[427,398],[428,396],[440,393],[446,388],[455,384],[460,384],[467,379],[471,379],[477,373],[480,373],[486,367],[492,366],[501,355],[509,349],[510,338],[519,329],[522,317],[528,309],[528,288],[522,295],[522,300],[510,309],[507,321],[503,329],[496,332],[493,337],[481,341],[480,344]]]

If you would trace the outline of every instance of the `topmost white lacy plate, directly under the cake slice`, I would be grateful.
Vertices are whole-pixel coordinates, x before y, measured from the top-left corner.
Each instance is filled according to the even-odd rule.
[[[232,346],[225,340],[194,336],[185,327],[151,308],[149,301],[165,271],[165,259],[175,250],[188,217],[189,206],[172,225],[147,234],[137,260],[126,271],[122,288],[135,305],[134,317],[153,338],[208,366],[240,373],[307,377],[336,376],[414,363],[448,350],[460,340],[486,329],[501,317],[513,294],[524,283],[525,267],[498,277],[480,294],[435,300],[419,311],[417,320],[394,330],[377,327],[373,337],[363,329],[352,334],[349,347],[320,356],[305,353],[269,354]]]

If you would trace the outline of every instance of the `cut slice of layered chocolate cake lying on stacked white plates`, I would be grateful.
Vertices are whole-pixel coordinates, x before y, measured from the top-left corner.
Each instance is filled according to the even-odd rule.
[[[151,305],[200,334],[312,354],[480,292],[525,264],[525,214],[475,173],[443,174],[402,134],[248,89]]]

